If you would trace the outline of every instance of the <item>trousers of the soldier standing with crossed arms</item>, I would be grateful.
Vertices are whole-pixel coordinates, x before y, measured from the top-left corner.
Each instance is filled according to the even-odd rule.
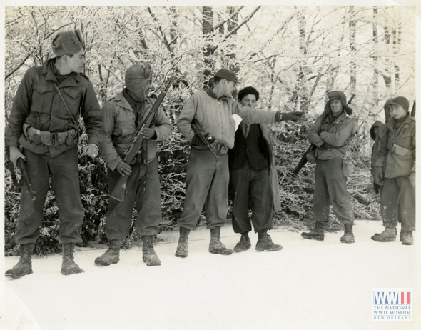
[[[330,204],[343,224],[354,223],[354,212],[343,175],[342,159],[316,159],[313,212],[315,221],[328,222]]]

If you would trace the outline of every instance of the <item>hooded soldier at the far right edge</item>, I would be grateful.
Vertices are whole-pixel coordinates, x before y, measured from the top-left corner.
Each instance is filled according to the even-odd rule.
[[[397,221],[402,221],[403,245],[414,244],[415,231],[415,118],[409,101],[398,96],[390,102],[391,119],[380,135],[372,169],[376,184],[382,187],[380,206],[385,230],[374,241],[395,241]]]

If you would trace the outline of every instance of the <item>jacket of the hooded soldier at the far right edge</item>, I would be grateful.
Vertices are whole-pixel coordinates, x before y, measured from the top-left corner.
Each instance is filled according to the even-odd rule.
[[[374,151],[375,166],[383,168],[385,178],[409,176],[415,166],[415,118],[407,116],[398,129],[395,119],[390,119],[385,127]]]

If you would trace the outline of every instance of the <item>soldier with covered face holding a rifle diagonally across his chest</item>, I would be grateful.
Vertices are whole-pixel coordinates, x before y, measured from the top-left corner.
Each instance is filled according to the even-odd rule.
[[[131,227],[136,207],[136,231],[143,242],[143,261],[159,266],[153,249],[161,221],[161,191],[158,177],[157,143],[171,136],[173,127],[160,106],[166,91],[154,101],[151,67],[136,64],[126,71],[126,88],[103,105],[103,141],[101,155],[108,166],[108,201],[105,232],[106,252],[95,264],[108,266],[119,261],[120,246]],[[168,90],[169,84],[166,87]],[[136,147],[137,146],[137,147]],[[126,160],[126,161],[125,161]]]

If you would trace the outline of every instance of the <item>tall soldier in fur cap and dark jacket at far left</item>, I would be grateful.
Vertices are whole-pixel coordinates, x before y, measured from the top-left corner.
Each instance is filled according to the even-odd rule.
[[[21,244],[21,259],[6,271],[11,279],[32,273],[31,256],[39,237],[50,179],[60,215],[61,274],[83,272],[73,261],[75,243],[82,241],[84,215],[78,177],[78,117],[81,114],[85,122],[89,141],[84,152],[91,158],[98,156],[102,120],[93,86],[82,73],[86,60],[78,31],[59,32],[52,49],[56,57],[26,71],[7,127],[10,159],[15,166],[19,157],[26,161],[36,192],[33,200],[26,189],[21,189],[15,236],[16,244]]]

